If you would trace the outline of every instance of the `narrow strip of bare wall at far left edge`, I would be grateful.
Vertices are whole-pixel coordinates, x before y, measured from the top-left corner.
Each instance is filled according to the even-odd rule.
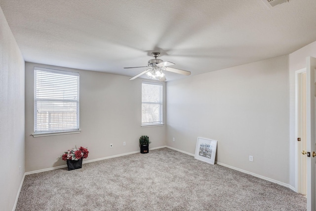
[[[24,174],[24,60],[1,8],[0,59],[0,210],[9,211]]]

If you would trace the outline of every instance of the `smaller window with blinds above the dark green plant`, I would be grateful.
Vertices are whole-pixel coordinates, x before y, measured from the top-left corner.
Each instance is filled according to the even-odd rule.
[[[142,82],[142,126],[161,125],[162,84]]]

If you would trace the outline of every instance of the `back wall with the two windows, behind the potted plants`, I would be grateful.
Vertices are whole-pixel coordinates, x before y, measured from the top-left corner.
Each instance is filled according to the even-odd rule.
[[[80,74],[80,134],[33,138],[34,67]],[[26,63],[26,172],[66,165],[59,157],[75,145],[88,147],[87,160],[139,151],[139,137],[150,148],[165,145],[165,126],[141,127],[141,82],[129,77]],[[165,86],[165,83],[163,83]],[[164,115],[165,116],[165,115]],[[123,141],[126,146],[123,146]],[[110,148],[113,143],[113,148]]]

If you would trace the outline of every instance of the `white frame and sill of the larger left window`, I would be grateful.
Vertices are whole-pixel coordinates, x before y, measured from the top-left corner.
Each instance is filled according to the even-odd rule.
[[[60,98],[57,98],[57,100],[54,99],[54,97],[56,96],[53,96],[52,98],[37,98],[37,92],[38,90],[38,87],[37,87],[37,72],[38,71],[46,71],[46,72],[50,72],[50,73],[59,73],[60,75],[57,76],[55,78],[56,79],[59,79],[58,77],[62,76],[62,75],[65,75],[65,76],[69,76],[69,75],[73,75],[73,76],[76,76],[77,78],[75,78],[77,81],[76,81],[76,85],[73,86],[73,87],[76,87],[77,88],[77,93],[75,95],[73,95],[75,97],[75,99],[73,100],[70,100],[70,99],[60,99]],[[42,137],[42,136],[55,136],[55,135],[65,135],[65,134],[76,134],[76,133],[80,133],[81,130],[79,128],[79,81],[80,81],[80,76],[79,76],[79,72],[72,72],[72,71],[66,71],[66,70],[56,70],[56,69],[49,69],[49,68],[40,68],[40,67],[35,67],[34,68],[34,133],[32,134],[33,137]],[[52,78],[51,78],[52,79]],[[68,78],[69,80],[69,78]],[[64,84],[64,83],[60,83],[60,84]],[[67,90],[68,89],[65,89],[64,90]],[[41,96],[42,97],[42,96]],[[45,101],[48,101],[48,102],[52,102],[52,99],[55,100],[56,102],[58,103],[61,103],[61,102],[64,102],[64,103],[69,103],[69,102],[72,102],[72,103],[75,103],[75,107],[76,107],[76,120],[73,121],[73,123],[75,123],[75,127],[72,127],[72,128],[65,128],[65,127],[61,127],[61,128],[58,128],[58,129],[52,129],[52,130],[39,130],[38,129],[38,120],[37,120],[37,117],[38,117],[38,102],[45,102]],[[52,106],[53,107],[53,106]],[[49,120],[47,120],[47,124],[49,124]]]

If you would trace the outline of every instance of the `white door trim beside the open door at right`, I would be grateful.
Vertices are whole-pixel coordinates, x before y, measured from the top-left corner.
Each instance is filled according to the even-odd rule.
[[[300,70],[296,70],[295,71],[295,162],[294,162],[294,172],[295,172],[295,176],[294,176],[294,180],[295,180],[295,187],[294,187],[294,191],[298,193],[298,142],[296,141],[298,138],[298,75],[306,72],[306,68],[300,69]],[[290,152],[290,154],[292,154]]]

